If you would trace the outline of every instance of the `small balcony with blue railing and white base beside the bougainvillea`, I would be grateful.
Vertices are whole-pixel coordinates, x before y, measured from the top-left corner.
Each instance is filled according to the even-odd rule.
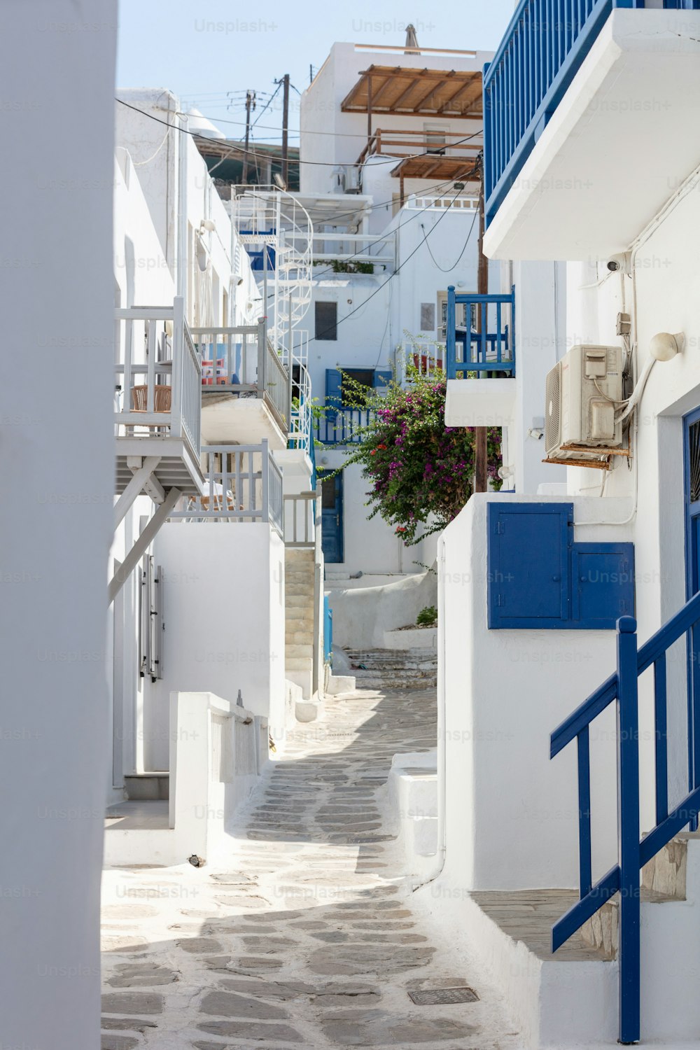
[[[450,285],[446,331],[446,425],[507,426],[515,407],[515,289],[462,294]]]

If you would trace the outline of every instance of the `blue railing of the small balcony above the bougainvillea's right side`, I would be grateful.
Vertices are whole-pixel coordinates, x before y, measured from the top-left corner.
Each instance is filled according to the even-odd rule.
[[[457,307],[464,304],[464,323]],[[515,289],[510,294],[478,295],[447,289],[447,378],[458,373],[505,372],[515,375]],[[458,349],[460,348],[459,352]]]

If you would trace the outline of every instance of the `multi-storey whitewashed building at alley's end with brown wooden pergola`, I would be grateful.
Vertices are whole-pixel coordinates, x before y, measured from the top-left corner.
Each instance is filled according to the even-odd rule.
[[[316,426],[321,478],[366,422],[348,407],[343,374],[381,390],[402,381],[407,359],[444,363],[447,287],[476,288],[488,58],[336,43],[301,98],[295,196],[314,230],[303,327],[312,397],[326,410]],[[366,499],[358,466],[323,483],[328,587],[390,583],[434,560],[434,537],[406,547],[379,517],[367,520]]]

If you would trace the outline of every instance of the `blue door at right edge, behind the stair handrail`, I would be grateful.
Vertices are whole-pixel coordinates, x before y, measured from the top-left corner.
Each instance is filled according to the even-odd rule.
[[[700,590],[700,408],[683,420],[685,474],[685,587],[686,596]],[[688,631],[688,781],[691,791],[700,785],[700,627]],[[697,820],[691,830],[696,831]]]

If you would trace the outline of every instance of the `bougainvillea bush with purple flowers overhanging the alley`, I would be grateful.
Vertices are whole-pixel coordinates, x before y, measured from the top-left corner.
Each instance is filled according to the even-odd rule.
[[[408,365],[406,386],[393,381],[367,391],[343,377],[358,407],[372,410],[361,442],[348,458],[369,484],[369,518],[380,514],[407,545],[439,532],[462,510],[472,491],[473,427],[445,426],[445,374],[429,378]],[[489,427],[488,475],[501,488],[501,430]]]

